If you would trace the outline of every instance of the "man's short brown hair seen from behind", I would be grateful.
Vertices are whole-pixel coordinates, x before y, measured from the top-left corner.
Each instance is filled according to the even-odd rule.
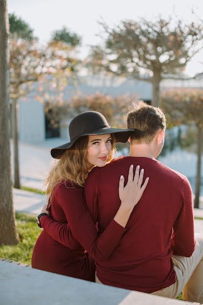
[[[135,128],[141,132],[132,132],[130,139],[136,144],[152,142],[159,129],[166,128],[166,118],[158,107],[150,106],[143,101],[133,103],[133,109],[128,113],[128,128]]]

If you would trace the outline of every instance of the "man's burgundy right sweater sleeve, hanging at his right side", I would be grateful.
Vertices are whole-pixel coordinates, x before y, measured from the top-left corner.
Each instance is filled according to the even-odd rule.
[[[188,179],[183,180],[183,204],[173,225],[171,240],[173,254],[190,257],[195,249],[193,195]]]

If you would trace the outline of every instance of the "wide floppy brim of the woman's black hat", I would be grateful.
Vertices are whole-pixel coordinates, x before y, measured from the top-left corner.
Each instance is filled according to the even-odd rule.
[[[51,149],[51,156],[54,159],[60,159],[61,154],[63,154],[64,150],[70,149],[75,141],[83,136],[89,136],[89,135],[106,135],[106,134],[113,134],[115,138],[115,143],[125,143],[128,141],[131,132],[133,129],[117,129],[117,128],[110,128],[105,127],[97,130],[93,130],[89,133],[84,133],[81,136],[78,136],[74,140],[65,143],[63,145],[57,146],[55,148]]]

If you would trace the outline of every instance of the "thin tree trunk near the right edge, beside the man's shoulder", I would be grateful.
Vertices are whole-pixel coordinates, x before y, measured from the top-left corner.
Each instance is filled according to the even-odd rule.
[[[199,208],[199,193],[201,184],[201,145],[203,141],[203,128],[198,127],[197,133],[197,171],[196,171],[196,184],[195,184],[195,200],[194,207]]]

